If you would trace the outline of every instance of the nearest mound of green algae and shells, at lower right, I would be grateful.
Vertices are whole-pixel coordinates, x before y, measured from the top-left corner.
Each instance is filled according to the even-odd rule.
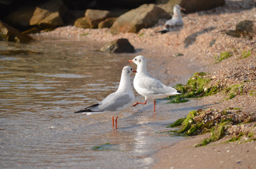
[[[223,110],[194,110],[189,112],[186,118],[178,119],[167,127],[181,126],[176,132],[177,134],[183,134],[185,136],[194,136],[210,132],[210,138],[202,141],[202,143],[196,146],[204,146],[213,141],[222,139],[225,136],[227,128],[232,125],[248,123],[254,121],[249,114],[242,113],[241,108],[228,108]],[[244,134],[238,135],[241,137]],[[253,133],[248,134],[248,137],[254,139]]]

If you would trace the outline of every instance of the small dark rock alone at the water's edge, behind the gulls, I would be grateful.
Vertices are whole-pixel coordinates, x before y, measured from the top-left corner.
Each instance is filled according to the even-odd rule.
[[[106,45],[101,47],[102,52],[112,52],[112,53],[134,53],[134,47],[129,43],[128,39],[117,39],[111,41]]]

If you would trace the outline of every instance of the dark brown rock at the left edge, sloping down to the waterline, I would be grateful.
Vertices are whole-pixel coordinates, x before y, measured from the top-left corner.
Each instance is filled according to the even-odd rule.
[[[19,30],[0,20],[0,41],[28,43],[32,40],[29,35],[21,34]]]

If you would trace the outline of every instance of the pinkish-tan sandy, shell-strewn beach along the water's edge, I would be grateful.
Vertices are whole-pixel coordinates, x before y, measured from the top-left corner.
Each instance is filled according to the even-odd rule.
[[[65,26],[51,32],[34,34],[32,37],[38,40],[49,38],[49,41],[53,38],[63,41],[72,39],[86,43],[88,47],[98,48],[112,40],[127,38],[136,49],[134,56],[144,55],[149,59],[147,64],[149,73],[163,83],[172,86],[177,83],[186,84],[196,72],[216,74],[217,78],[223,78],[225,81],[227,75],[225,73],[238,71],[237,68],[256,66],[255,34],[252,39],[246,39],[231,37],[224,33],[225,30],[235,30],[236,24],[242,20],[252,20],[256,25],[256,8],[251,8],[252,5],[255,5],[254,1],[226,1],[223,7],[184,15],[185,25],[180,32],[177,46],[175,34],[155,33],[163,28],[164,21],[159,21],[154,28],[142,29],[138,34],[112,35],[109,29]],[[232,56],[215,64],[214,57],[225,51],[232,52]],[[248,51],[251,55],[241,59],[243,52]],[[175,54],[183,54],[183,56],[173,57]],[[256,72],[252,74],[253,78],[255,74]],[[236,83],[236,78],[227,85],[232,83]],[[248,90],[256,90],[255,79],[244,87],[249,88]],[[216,94],[203,97],[202,101],[205,104],[211,103],[209,109],[242,108],[245,112],[254,113],[255,117],[255,95],[245,93],[229,100],[223,100],[223,97],[223,94]],[[245,125],[255,126],[255,122]],[[194,147],[209,136],[210,134],[192,136],[160,150],[154,154],[158,162],[152,168],[256,168],[256,141],[224,143],[228,140],[224,137],[207,146]]]

